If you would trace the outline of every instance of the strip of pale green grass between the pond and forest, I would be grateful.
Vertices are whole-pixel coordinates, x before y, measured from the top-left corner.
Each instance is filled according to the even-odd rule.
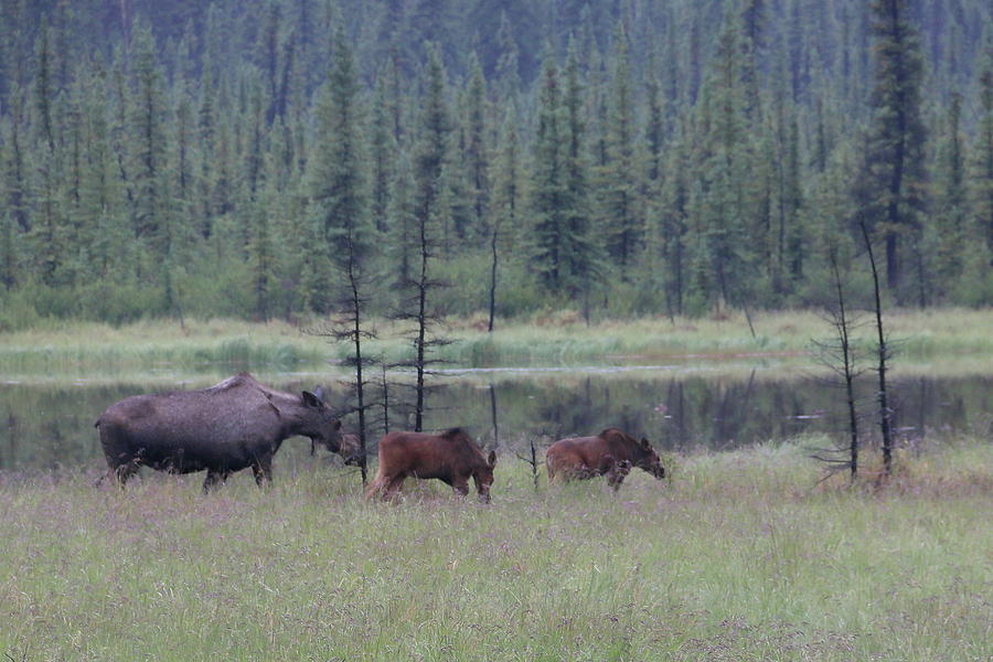
[[[438,357],[463,366],[568,365],[588,362],[658,363],[673,360],[747,360],[756,355],[789,360],[805,354],[812,339],[830,337],[816,314],[770,312],[754,318],[751,335],[744,317],[727,319],[644,318],[605,321],[587,327],[568,312],[498,325],[487,333],[481,318],[451,320],[439,331],[456,340]],[[954,370],[993,371],[993,309],[895,311],[887,329],[896,341],[897,365],[919,365],[940,357]],[[389,361],[409,359],[409,341],[391,322],[376,324],[378,340],[366,355]],[[868,340],[862,327],[856,338]],[[54,323],[30,331],[0,334],[0,373],[21,376],[115,375],[169,369],[225,371],[327,370],[350,348],[332,343],[284,322],[253,324],[234,320],[143,321],[120,328],[95,323]]]

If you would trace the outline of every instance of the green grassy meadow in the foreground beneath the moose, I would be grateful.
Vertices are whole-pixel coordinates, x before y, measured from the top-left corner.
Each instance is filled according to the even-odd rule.
[[[9,474],[0,654],[989,660],[991,446],[898,460],[875,490],[818,484],[799,445],[674,456],[671,482],[615,495],[535,493],[505,452],[489,508],[436,487],[367,503],[354,473],[289,458],[269,491],[210,496]]]

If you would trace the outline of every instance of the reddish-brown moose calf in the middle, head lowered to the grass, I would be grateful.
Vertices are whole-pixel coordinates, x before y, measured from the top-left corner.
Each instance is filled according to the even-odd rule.
[[[480,501],[490,502],[496,452],[483,456],[479,446],[460,428],[441,435],[425,433],[389,433],[380,440],[380,469],[365,491],[370,499],[392,499],[408,476],[437,478],[451,485],[456,494],[469,493],[469,477],[476,482]]]

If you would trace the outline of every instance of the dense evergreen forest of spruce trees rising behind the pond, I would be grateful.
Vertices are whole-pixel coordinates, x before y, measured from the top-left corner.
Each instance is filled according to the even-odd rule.
[[[993,303],[987,0],[0,4],[0,329]]]

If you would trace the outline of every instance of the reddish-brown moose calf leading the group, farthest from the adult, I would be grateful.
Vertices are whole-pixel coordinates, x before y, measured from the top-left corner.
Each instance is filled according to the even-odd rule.
[[[607,476],[615,490],[632,467],[665,478],[665,469],[648,439],[637,441],[617,428],[607,428],[596,437],[559,439],[545,453],[548,480],[581,480]]]

